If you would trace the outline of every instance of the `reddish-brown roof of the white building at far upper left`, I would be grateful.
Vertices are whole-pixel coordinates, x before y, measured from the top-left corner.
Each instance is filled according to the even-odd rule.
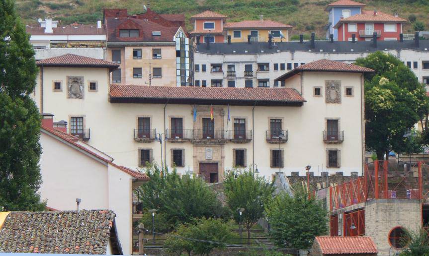
[[[25,27],[27,33],[31,35],[105,35],[106,30],[104,25],[101,28],[97,28],[97,25],[82,25],[77,24],[72,25],[61,25],[58,24],[58,27],[52,28],[52,33],[45,33],[45,28],[40,27],[38,24],[31,26],[28,25]]]

